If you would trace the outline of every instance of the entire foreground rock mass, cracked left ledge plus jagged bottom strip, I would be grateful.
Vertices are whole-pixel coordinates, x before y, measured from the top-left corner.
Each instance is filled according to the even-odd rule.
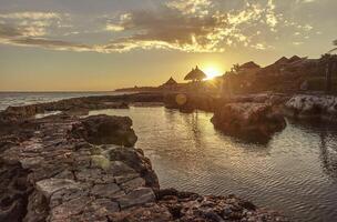
[[[141,150],[101,144],[134,135],[129,118],[59,114],[27,122],[34,128],[25,137],[2,134],[19,139],[0,144],[1,222],[286,221],[234,195],[160,190]]]

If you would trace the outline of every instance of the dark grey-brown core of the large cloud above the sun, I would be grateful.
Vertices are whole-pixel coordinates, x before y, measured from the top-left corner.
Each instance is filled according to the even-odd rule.
[[[135,33],[123,40],[134,41],[164,41],[167,43],[192,44],[192,37],[206,43],[208,33],[218,26],[225,26],[215,17],[184,16],[176,10],[139,11],[121,21],[124,30]]]

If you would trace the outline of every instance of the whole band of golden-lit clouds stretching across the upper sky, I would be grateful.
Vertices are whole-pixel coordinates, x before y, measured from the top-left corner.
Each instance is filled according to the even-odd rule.
[[[238,2],[238,1],[237,1]],[[309,31],[277,12],[275,0],[243,0],[235,9],[223,9],[219,0],[171,0],[153,10],[125,11],[111,18],[100,17],[110,41],[83,44],[62,38],[84,34],[68,30],[58,38],[52,33],[64,24],[67,14],[54,12],[14,12],[0,14],[0,42],[53,50],[125,52],[135,49],[166,49],[185,52],[223,52],[246,47],[269,50],[267,38],[278,38],[278,30]],[[293,31],[296,32],[296,31]],[[262,37],[263,36],[263,37]],[[92,42],[92,41],[91,41]]]

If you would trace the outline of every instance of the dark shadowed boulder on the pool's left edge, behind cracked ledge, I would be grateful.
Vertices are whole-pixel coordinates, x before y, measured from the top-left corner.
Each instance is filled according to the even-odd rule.
[[[133,147],[137,140],[131,129],[132,120],[122,117],[95,115],[73,125],[72,133],[93,144],[118,144]]]

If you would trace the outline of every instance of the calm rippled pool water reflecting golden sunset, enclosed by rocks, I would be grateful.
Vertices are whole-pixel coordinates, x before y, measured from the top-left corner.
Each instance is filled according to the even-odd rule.
[[[214,130],[212,113],[131,108],[90,114],[101,113],[132,118],[136,147],[162,188],[235,193],[294,221],[337,221],[337,127],[288,122],[269,143],[253,144]]]

